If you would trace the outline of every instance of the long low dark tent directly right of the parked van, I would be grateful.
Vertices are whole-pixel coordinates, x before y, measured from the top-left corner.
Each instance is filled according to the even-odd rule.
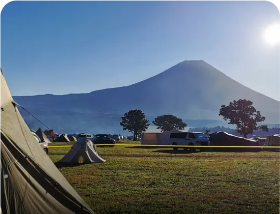
[[[258,141],[238,137],[227,132],[216,132],[210,134],[210,146],[248,146],[248,148],[212,148],[213,151],[228,152],[259,152],[261,148],[250,148],[259,146]]]

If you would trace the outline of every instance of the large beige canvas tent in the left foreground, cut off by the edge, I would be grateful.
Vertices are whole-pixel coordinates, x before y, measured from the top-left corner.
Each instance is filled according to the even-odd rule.
[[[2,214],[94,214],[34,139],[1,70],[0,121]]]

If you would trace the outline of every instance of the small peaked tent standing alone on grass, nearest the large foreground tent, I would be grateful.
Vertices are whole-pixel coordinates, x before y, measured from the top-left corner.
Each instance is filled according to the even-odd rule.
[[[106,161],[101,157],[96,146],[89,139],[80,138],[60,162],[91,164]]]

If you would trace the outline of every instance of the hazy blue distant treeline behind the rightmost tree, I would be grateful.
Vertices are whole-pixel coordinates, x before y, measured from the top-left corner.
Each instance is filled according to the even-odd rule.
[[[216,126],[216,127],[197,127],[197,128],[190,128],[190,132],[203,132],[205,133],[206,130],[210,130],[210,134],[214,132],[227,132],[236,136],[242,136],[239,134],[235,129],[231,129],[224,126]],[[273,127],[269,128],[269,132],[263,131],[263,130],[257,130],[254,132],[253,135],[274,135],[274,134],[280,134],[280,128],[279,127]],[[248,135],[248,138],[251,138],[253,135]]]

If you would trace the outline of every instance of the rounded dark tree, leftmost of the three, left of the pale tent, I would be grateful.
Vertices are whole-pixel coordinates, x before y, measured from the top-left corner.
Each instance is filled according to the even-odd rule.
[[[131,132],[134,137],[133,141],[136,141],[137,136],[141,136],[150,125],[149,120],[145,119],[145,114],[138,109],[126,112],[121,119],[120,125],[123,127],[123,131]]]

